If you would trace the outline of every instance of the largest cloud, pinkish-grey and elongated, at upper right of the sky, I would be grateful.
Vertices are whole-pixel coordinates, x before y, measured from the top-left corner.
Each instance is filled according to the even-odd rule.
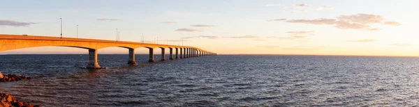
[[[325,24],[334,25],[340,29],[357,29],[365,31],[378,31],[380,28],[371,28],[372,24],[385,24],[399,26],[398,22],[385,22],[385,19],[381,15],[371,14],[357,14],[357,15],[341,15],[337,19],[292,19],[287,20],[290,23],[302,23],[302,24]]]

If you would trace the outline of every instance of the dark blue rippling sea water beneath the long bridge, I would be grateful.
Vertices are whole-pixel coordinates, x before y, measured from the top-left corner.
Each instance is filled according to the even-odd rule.
[[[159,55],[156,55],[159,56]],[[168,58],[168,56],[166,56]],[[39,76],[0,83],[43,106],[416,106],[419,58],[204,56],[126,65],[128,55],[98,55],[109,69],[80,69],[87,55],[3,55],[3,74]],[[157,60],[157,59],[156,59]]]

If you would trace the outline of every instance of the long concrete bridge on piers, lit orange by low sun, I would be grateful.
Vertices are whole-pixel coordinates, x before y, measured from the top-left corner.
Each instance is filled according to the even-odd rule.
[[[0,35],[0,51],[45,46],[77,47],[82,49],[88,49],[89,63],[87,63],[86,66],[86,68],[88,69],[101,68],[101,66],[98,64],[98,49],[103,49],[106,47],[124,47],[128,49],[128,64],[130,65],[137,64],[135,63],[135,49],[140,47],[145,47],[149,49],[149,62],[154,62],[155,48],[161,48],[160,60],[166,60],[166,48],[169,49],[169,60],[216,55],[216,53],[205,51],[196,47],[175,46],[166,44],[150,44],[140,42],[122,42],[116,40],[93,40],[80,38],[57,38],[33,35]],[[175,49],[175,58],[173,57],[173,49]]]

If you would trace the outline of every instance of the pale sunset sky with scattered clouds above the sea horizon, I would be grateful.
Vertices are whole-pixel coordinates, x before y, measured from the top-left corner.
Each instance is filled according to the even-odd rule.
[[[219,54],[419,56],[419,1],[14,0],[0,33],[175,44]],[[78,25],[78,27],[77,27]],[[77,35],[78,33],[78,35]],[[157,41],[158,40],[158,41]],[[184,41],[182,43],[182,41]],[[98,53],[128,53],[109,47]],[[136,49],[147,53],[147,49]],[[8,53],[87,53],[34,47]]]

